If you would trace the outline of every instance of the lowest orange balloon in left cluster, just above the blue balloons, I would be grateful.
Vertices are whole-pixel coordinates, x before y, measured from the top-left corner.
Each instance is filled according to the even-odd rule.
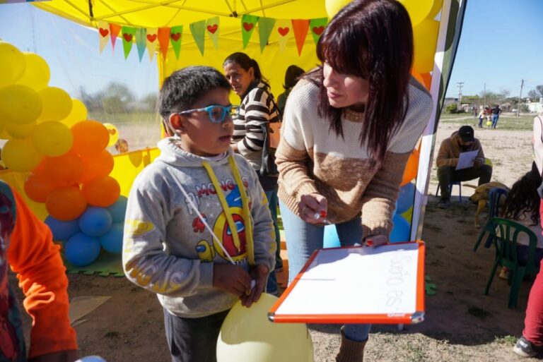
[[[87,207],[85,196],[77,187],[61,187],[52,191],[45,201],[45,208],[55,219],[69,221],[83,214]]]

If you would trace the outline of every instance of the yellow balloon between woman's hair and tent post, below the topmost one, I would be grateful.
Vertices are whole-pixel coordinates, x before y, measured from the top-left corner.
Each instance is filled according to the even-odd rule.
[[[419,73],[433,71],[433,59],[436,56],[438,43],[439,22],[424,20],[413,28],[415,59],[413,67]]]

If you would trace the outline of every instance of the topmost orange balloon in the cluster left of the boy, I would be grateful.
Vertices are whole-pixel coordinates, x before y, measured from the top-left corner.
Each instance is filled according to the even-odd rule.
[[[71,134],[74,135],[72,150],[78,155],[89,155],[105,150],[110,142],[110,133],[107,128],[98,121],[81,121],[71,126]]]

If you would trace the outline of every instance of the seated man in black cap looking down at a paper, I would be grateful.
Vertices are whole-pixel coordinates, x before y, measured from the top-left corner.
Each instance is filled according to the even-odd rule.
[[[457,170],[460,152],[478,150],[479,153],[474,159],[473,167]],[[450,181],[468,181],[479,178],[479,185],[490,182],[492,167],[485,164],[483,148],[479,140],[474,137],[473,128],[462,126],[449,138],[445,138],[439,147],[438,159],[438,180],[441,189],[441,198],[438,207],[446,209],[450,206]]]

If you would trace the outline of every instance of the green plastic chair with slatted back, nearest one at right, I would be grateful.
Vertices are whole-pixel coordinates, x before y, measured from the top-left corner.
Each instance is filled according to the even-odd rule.
[[[484,294],[486,296],[489,295],[490,284],[492,284],[492,279],[494,279],[498,266],[506,267],[509,270],[508,282],[511,286],[508,307],[513,308],[517,306],[518,291],[520,290],[522,279],[524,279],[526,275],[534,275],[539,272],[539,265],[536,265],[535,263],[537,236],[535,236],[532,230],[524,225],[514,222],[513,220],[502,219],[501,217],[494,217],[491,220],[491,225],[491,233],[494,239],[494,245],[496,246],[496,260],[494,260],[489,281],[486,282]],[[517,238],[520,233],[527,234],[530,239],[526,263],[522,263],[518,260]]]

